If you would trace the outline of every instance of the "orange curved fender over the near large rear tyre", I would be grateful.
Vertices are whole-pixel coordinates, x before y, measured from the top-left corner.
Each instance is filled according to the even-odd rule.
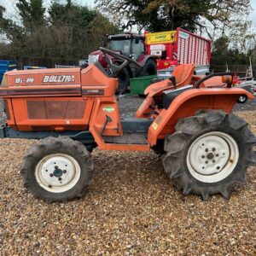
[[[254,98],[251,93],[241,88],[184,91],[173,100],[168,109],[163,109],[149,126],[148,142],[150,146],[156,145],[157,140],[164,139],[167,134],[172,134],[178,119],[193,116],[198,110],[219,109],[230,113],[241,95],[246,95],[248,99]]]

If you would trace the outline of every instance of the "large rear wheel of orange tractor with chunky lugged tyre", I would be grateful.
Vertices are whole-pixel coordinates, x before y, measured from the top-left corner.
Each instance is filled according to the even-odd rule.
[[[247,167],[256,164],[256,138],[243,119],[218,110],[200,111],[179,120],[175,129],[166,137],[162,159],[184,195],[207,200],[220,193],[229,198],[236,183],[246,183]]]

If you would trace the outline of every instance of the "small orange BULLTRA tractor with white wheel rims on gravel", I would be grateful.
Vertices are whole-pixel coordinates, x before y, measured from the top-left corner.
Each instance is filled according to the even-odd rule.
[[[256,138],[231,110],[239,96],[253,95],[230,88],[232,74],[201,79],[193,75],[194,65],[181,65],[170,79],[147,88],[135,118],[120,119],[115,74],[139,64],[102,51],[112,75],[99,63],[4,75],[0,95],[8,120],[0,137],[40,139],[21,166],[24,185],[36,198],[68,201],[84,195],[93,170],[90,152],[96,147],[152,148],[177,189],[203,200],[218,193],[227,198],[234,184],[245,183],[247,167],[256,163]],[[109,55],[123,64],[116,66]]]

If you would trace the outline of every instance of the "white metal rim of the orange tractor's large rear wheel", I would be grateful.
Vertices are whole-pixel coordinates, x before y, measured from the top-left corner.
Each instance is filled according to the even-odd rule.
[[[228,177],[239,159],[236,141],[230,135],[208,132],[189,147],[187,166],[190,174],[203,183],[217,183]]]

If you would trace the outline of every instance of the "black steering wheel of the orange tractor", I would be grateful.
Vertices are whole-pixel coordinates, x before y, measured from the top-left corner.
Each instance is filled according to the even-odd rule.
[[[103,53],[104,57],[106,58],[106,61],[108,62],[109,69],[114,74],[119,73],[124,67],[126,67],[129,64],[134,64],[137,67],[142,67],[142,65],[139,64],[137,61],[133,61],[132,59],[130,59],[124,55],[119,55],[118,53],[114,52],[111,49],[107,49],[107,48],[103,48],[103,47],[100,47],[100,49],[102,50],[102,53]],[[111,56],[119,59],[120,61],[123,61],[123,63],[119,66],[113,64],[112,60],[108,57],[108,55],[111,55]]]

